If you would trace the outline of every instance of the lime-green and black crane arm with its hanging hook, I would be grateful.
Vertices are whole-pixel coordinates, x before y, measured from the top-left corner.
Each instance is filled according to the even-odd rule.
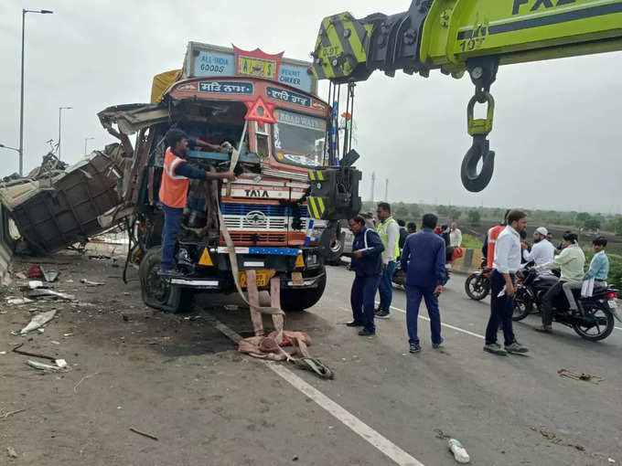
[[[467,131],[473,145],[462,163],[469,191],[484,189],[494,170],[490,151],[495,101],[490,86],[499,65],[622,50],[622,0],[413,0],[396,15],[322,21],[313,52],[319,79],[352,83],[375,69],[428,77],[431,69],[475,84]],[[486,118],[474,118],[476,103]],[[478,165],[481,162],[481,170]]]

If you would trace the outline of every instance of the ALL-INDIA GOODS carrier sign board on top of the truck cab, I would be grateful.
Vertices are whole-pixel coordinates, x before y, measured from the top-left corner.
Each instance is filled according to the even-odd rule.
[[[316,94],[317,80],[309,74],[312,63],[270,55],[259,48],[247,51],[189,42],[184,78],[259,76]]]

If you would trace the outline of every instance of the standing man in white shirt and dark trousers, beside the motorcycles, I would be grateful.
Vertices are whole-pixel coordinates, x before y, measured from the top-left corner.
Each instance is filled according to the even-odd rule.
[[[520,231],[527,226],[527,215],[520,210],[510,210],[508,226],[501,231],[495,245],[495,259],[490,272],[490,318],[486,327],[484,351],[493,355],[527,353],[529,350],[516,341],[512,330],[516,272],[520,269]],[[499,323],[503,327],[504,348],[497,343]]]

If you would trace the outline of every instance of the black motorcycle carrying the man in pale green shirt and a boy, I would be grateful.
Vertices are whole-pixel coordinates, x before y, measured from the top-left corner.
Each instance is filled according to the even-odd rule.
[[[535,270],[524,270],[522,275],[514,297],[512,320],[515,322],[521,321],[531,313],[542,312],[544,294],[558,281],[553,275],[538,274]],[[554,322],[571,327],[585,340],[591,342],[603,340],[613,332],[615,319],[622,322],[617,314],[615,288],[611,286],[595,288],[589,298],[582,298],[581,291],[575,290],[574,297],[580,311],[576,314],[570,313],[568,300],[564,293],[560,293],[552,303],[552,319]]]

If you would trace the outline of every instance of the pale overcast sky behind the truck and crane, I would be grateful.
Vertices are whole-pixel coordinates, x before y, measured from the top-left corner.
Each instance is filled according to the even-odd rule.
[[[27,170],[57,139],[63,111],[61,155],[75,162],[115,140],[96,113],[120,103],[149,100],[151,79],[180,68],[186,44],[285,51],[308,59],[321,19],[341,11],[356,17],[404,11],[410,0],[176,2],[152,0],[0,0],[0,143],[19,144],[21,9],[27,14],[25,156]],[[355,104],[362,155],[362,196],[376,199],[486,207],[538,207],[622,212],[622,53],[512,65],[499,70],[491,148],[495,175],[479,194],[460,182],[470,146],[466,103],[473,86],[434,71],[429,79],[379,71],[359,83]],[[326,89],[324,87],[323,89]],[[321,97],[326,98],[327,95]],[[0,175],[17,171],[17,154],[0,149]]]

